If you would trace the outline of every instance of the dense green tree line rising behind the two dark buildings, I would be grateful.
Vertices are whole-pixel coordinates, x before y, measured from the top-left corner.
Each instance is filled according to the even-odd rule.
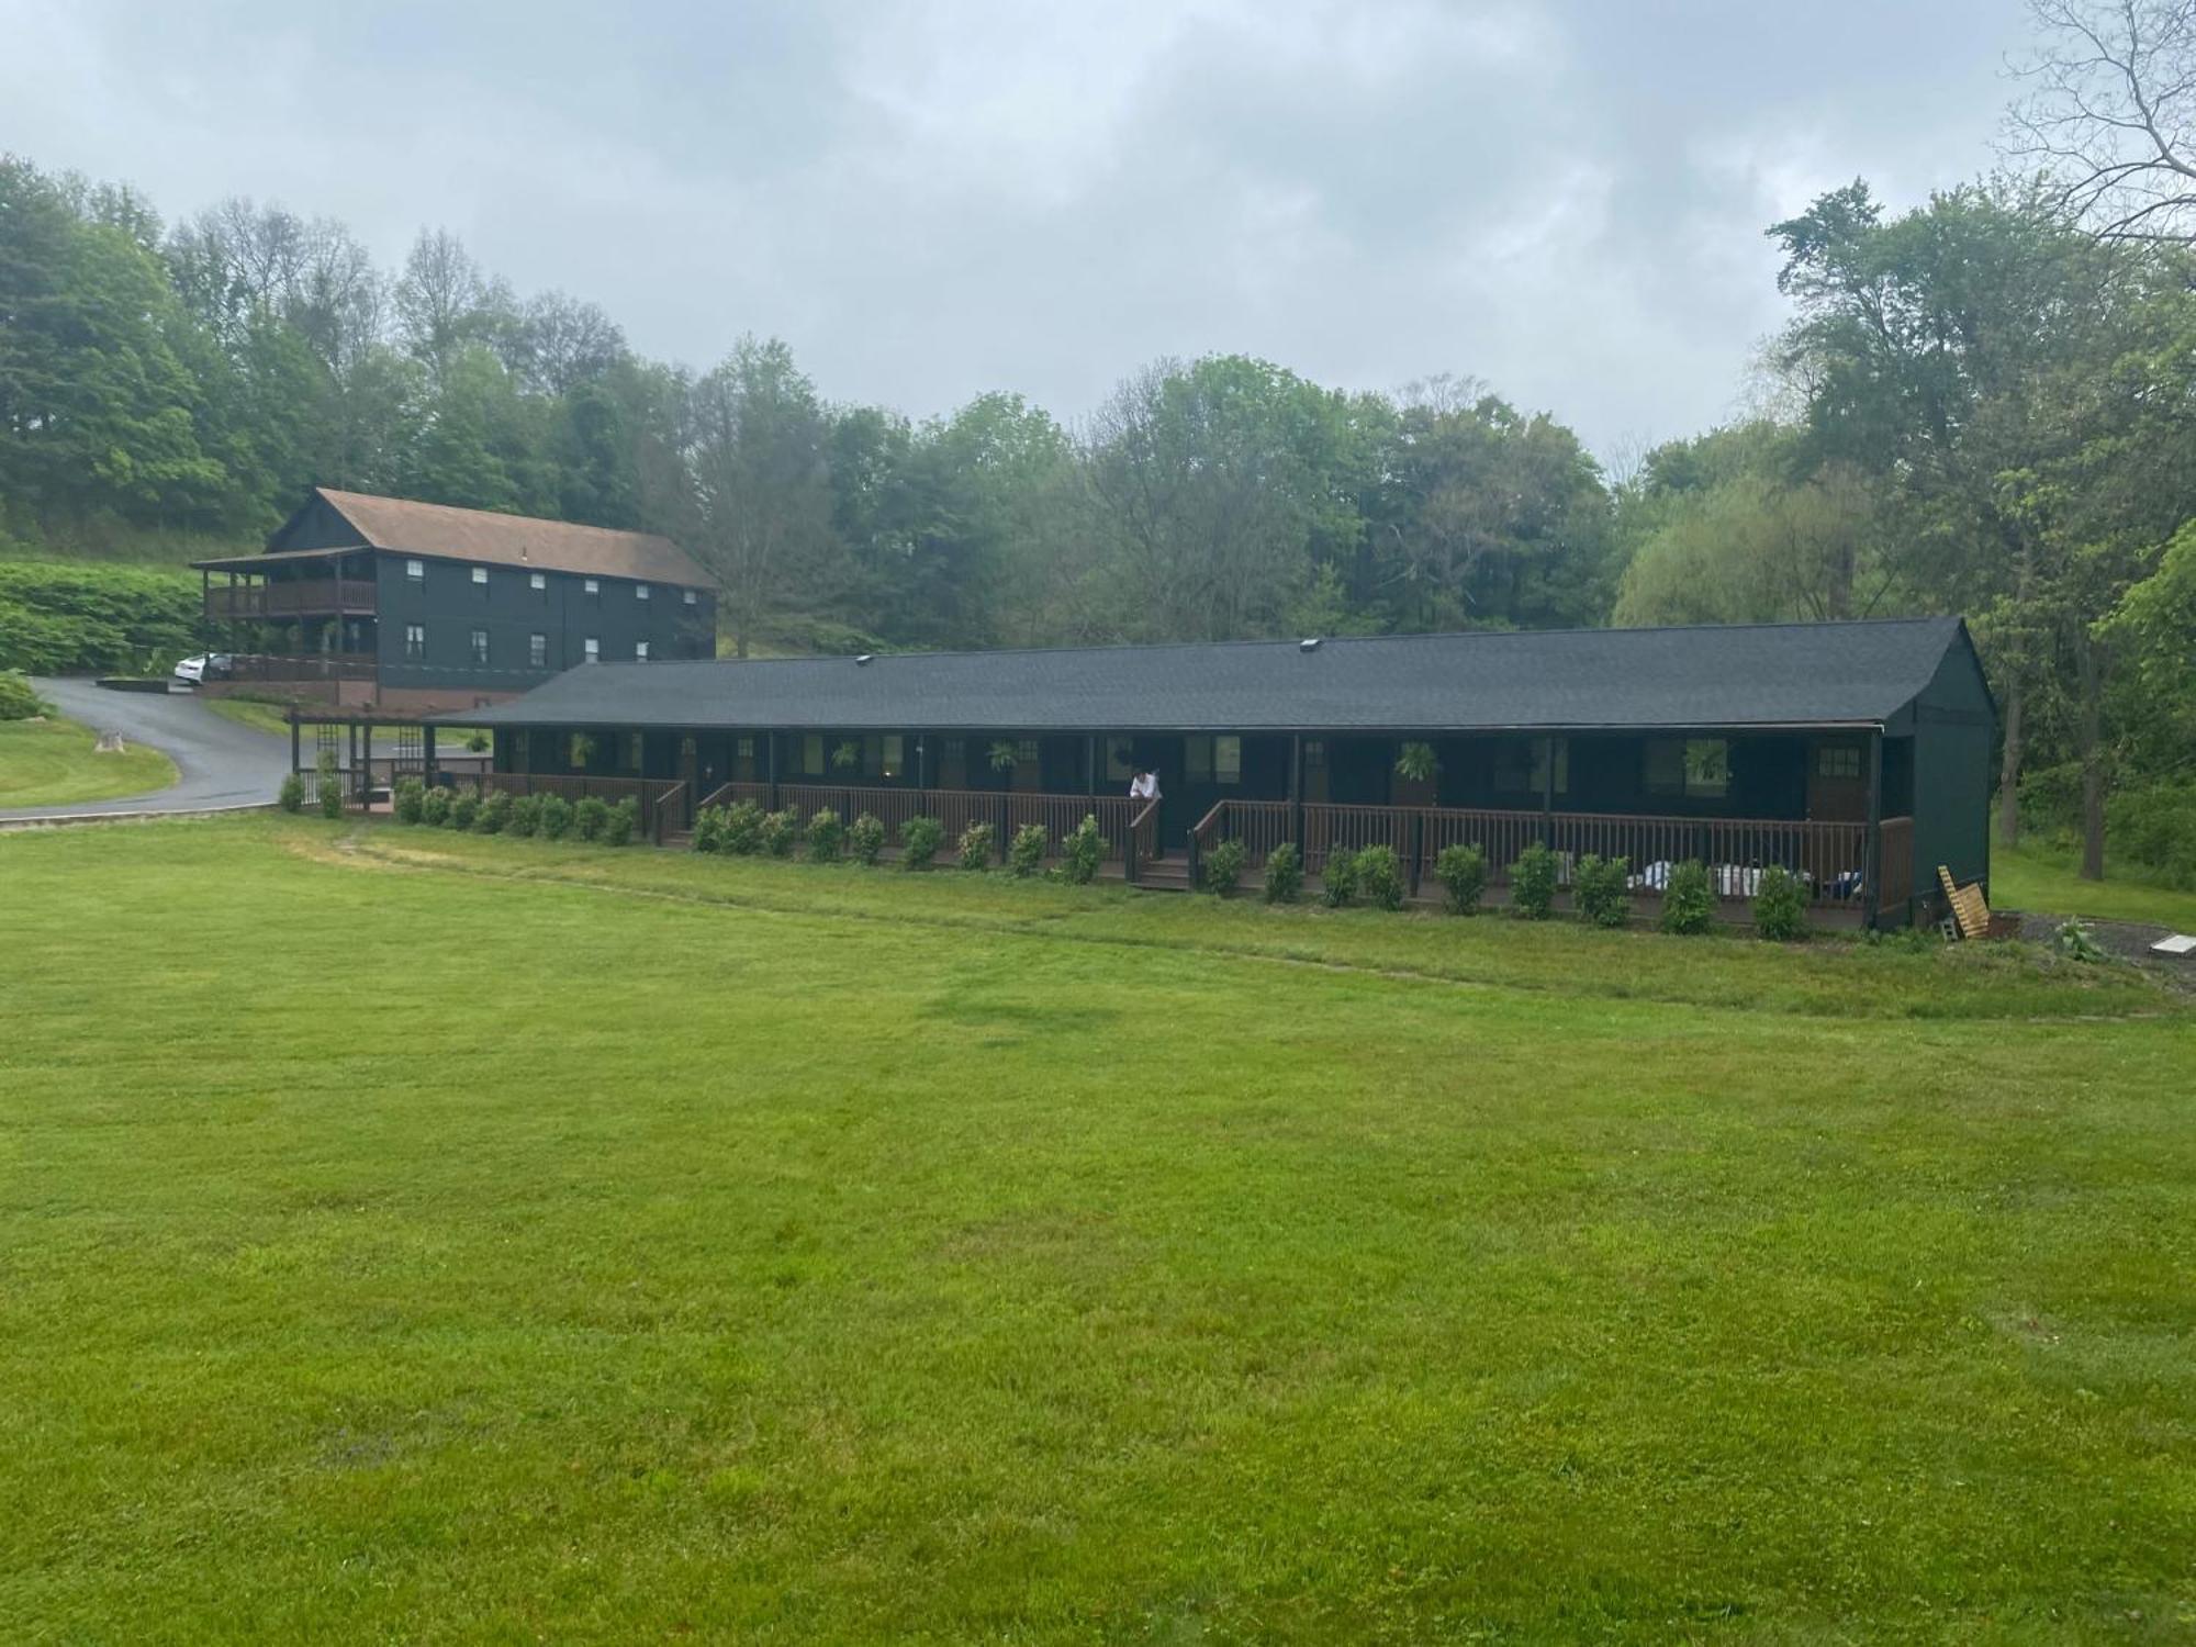
[[[2196,0],[2038,0],[2009,167],[1768,233],[1755,419],[1612,472],[1546,413],[1159,360],[1069,428],[834,404],[775,338],[646,360],[448,233],[0,160],[0,531],[246,538],[305,485],[659,529],[727,650],[1970,615],[2001,832],[2196,883]]]

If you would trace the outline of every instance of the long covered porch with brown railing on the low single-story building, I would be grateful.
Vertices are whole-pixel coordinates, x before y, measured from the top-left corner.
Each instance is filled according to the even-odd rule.
[[[1129,802],[1155,769],[1162,799]],[[1478,845],[1489,900],[1546,843],[1568,885],[1588,856],[1623,859],[1651,914],[1669,870],[1698,859],[1726,916],[1746,920],[1761,872],[1790,870],[1825,925],[1904,925],[1915,885],[1913,738],[1878,727],[1643,733],[1021,733],[498,729],[490,784],[630,784],[650,830],[676,839],[703,806],[753,802],[843,821],[874,813],[894,843],[914,817],[949,834],[993,826],[1004,852],[1039,824],[1054,845],[1098,817],[1107,865],[1146,885],[1195,883],[1219,841],[1245,848],[1250,883],[1282,841],[1318,881],[1337,852],[1390,845],[1412,896],[1434,861]]]

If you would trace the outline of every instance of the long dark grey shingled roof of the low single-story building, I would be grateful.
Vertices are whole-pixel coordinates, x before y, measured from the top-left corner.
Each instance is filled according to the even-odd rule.
[[[1748,727],[1884,720],[1957,617],[1728,628],[1388,635],[867,663],[584,663],[452,720],[503,727],[1287,731]]]

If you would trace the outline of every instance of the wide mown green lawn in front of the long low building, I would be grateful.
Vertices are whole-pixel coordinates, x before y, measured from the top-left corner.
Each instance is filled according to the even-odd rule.
[[[0,887],[0,1636],[2196,1629],[2132,968],[266,817]]]

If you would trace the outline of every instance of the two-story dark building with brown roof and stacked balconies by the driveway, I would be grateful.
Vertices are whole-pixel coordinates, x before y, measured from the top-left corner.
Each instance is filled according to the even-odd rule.
[[[670,538],[314,488],[257,556],[198,560],[209,692],[474,709],[575,663],[716,657],[716,591]]]

